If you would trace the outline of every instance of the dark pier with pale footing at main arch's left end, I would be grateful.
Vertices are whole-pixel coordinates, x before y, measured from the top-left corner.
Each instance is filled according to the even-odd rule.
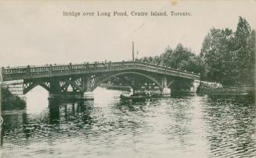
[[[81,77],[81,87],[84,90],[84,99],[94,100],[94,96],[91,90],[91,79],[89,75],[84,75]]]

